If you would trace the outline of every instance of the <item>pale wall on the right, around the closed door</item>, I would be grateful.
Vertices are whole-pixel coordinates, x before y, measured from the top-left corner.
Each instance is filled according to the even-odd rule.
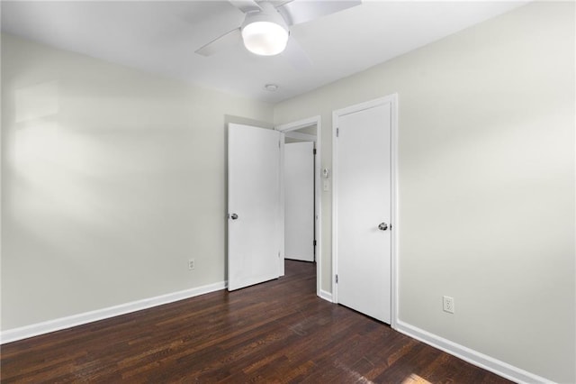
[[[574,43],[574,4],[534,3],[275,106],[278,124],[322,115],[331,168],[331,112],[397,92],[401,322],[563,383],[576,381]],[[330,192],[322,204],[330,291]]]

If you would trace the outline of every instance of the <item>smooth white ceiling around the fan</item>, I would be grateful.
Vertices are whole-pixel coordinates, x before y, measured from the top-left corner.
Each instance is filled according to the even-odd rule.
[[[3,32],[275,103],[526,3],[365,1],[293,25],[292,36],[313,62],[305,70],[294,69],[283,56],[257,57],[241,45],[211,57],[195,54],[242,23],[244,14],[227,1],[2,1],[1,6]],[[266,91],[267,83],[280,88]]]

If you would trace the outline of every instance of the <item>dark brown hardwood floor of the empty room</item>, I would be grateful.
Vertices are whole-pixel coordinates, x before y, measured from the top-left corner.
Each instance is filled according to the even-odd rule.
[[[2,382],[509,383],[316,297],[315,266],[1,350]]]

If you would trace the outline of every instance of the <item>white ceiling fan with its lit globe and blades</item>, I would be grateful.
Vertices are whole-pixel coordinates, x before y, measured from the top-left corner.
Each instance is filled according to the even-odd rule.
[[[290,36],[290,26],[360,5],[362,0],[229,0],[229,3],[246,14],[244,23],[205,44],[196,53],[211,56],[243,41],[252,53],[261,56],[282,53],[295,68],[304,69],[311,65],[311,60]]]

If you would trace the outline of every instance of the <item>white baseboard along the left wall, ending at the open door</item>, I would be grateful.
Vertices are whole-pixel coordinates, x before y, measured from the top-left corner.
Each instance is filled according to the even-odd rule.
[[[76,325],[85,325],[94,321],[107,319],[118,315],[126,315],[130,312],[136,312],[147,309],[152,306],[161,306],[163,304],[173,303],[184,298],[200,296],[206,293],[214,292],[226,288],[226,281],[209,284],[202,287],[184,289],[178,292],[169,293],[157,297],[144,298],[142,300],[132,301],[119,306],[109,306],[107,308],[95,311],[85,312],[82,314],[60,317],[58,319],[46,322],[26,325],[20,328],[8,329],[0,333],[0,344],[12,343],[17,340],[26,339],[39,334],[49,334],[50,332],[61,329],[71,328]]]

